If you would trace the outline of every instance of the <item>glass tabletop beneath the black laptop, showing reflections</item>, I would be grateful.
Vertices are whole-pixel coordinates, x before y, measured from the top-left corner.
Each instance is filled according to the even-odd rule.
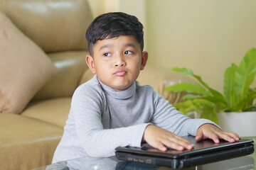
[[[242,137],[245,139],[254,140],[256,143],[256,137]],[[245,157],[237,157],[233,159],[227,159],[220,162],[213,162],[210,164],[203,164],[199,166],[193,166],[187,169],[256,169],[256,145],[255,152]],[[142,164],[137,162],[124,162],[116,159],[116,157],[96,158],[96,157],[80,157],[78,159],[72,159],[65,162],[58,162],[56,164],[50,164],[48,166],[42,166],[33,170],[68,170],[68,169],[92,169],[92,170],[168,170],[169,167],[156,166],[150,164]]]

